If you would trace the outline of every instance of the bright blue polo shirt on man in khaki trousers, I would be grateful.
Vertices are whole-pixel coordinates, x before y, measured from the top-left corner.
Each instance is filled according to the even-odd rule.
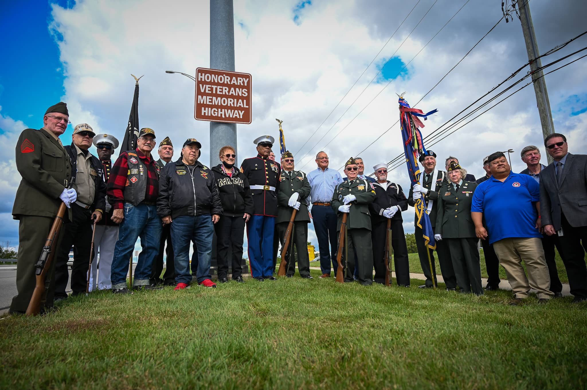
[[[471,211],[483,213],[490,244],[508,237],[541,238],[532,204],[539,200],[540,186],[534,177],[511,172],[503,183],[490,177],[479,184]]]

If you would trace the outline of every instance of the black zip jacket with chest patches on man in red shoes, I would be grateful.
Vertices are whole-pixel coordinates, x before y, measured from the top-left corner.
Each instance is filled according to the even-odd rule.
[[[171,219],[182,215],[222,214],[214,174],[198,160],[192,166],[180,159],[168,163],[159,177],[157,214]]]

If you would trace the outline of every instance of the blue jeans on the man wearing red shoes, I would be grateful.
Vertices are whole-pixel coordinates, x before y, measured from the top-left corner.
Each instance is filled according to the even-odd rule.
[[[176,283],[191,282],[190,245],[193,241],[198,249],[198,283],[211,279],[210,260],[212,259],[212,235],[214,224],[212,215],[181,215],[171,222],[171,242],[175,252]]]

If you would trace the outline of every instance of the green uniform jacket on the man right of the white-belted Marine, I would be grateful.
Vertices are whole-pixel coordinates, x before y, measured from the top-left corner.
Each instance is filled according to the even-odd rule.
[[[292,170],[291,172],[282,170],[279,176],[279,192],[277,193],[276,224],[289,222],[289,218],[292,217],[294,208],[288,206],[288,201],[295,192],[299,193],[298,201],[300,203],[299,210],[295,215],[295,221],[310,222],[308,203],[306,203],[306,199],[310,196],[308,177],[300,170]]]

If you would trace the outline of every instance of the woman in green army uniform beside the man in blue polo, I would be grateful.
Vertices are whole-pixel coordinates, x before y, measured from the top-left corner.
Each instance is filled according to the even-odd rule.
[[[454,273],[461,292],[483,294],[479,265],[478,238],[471,220],[471,200],[477,184],[465,182],[467,171],[458,163],[448,166],[448,179],[438,191],[436,240],[446,240],[450,248]]]

